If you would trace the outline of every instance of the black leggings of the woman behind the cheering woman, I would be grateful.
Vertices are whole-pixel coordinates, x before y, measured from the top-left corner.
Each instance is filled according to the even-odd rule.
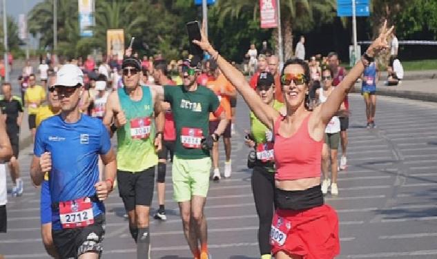
[[[275,174],[265,167],[255,166],[252,173],[252,192],[260,225],[258,244],[261,255],[271,253],[270,229],[275,198]]]

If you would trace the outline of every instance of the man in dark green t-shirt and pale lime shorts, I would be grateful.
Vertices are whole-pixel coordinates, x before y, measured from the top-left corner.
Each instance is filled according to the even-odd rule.
[[[229,121],[217,95],[197,84],[196,69],[191,61],[182,64],[182,75],[182,86],[155,86],[155,89],[165,102],[171,104],[175,119],[173,189],[174,198],[179,203],[185,238],[194,258],[207,259],[204,204],[211,171],[210,150]],[[214,113],[220,119],[217,129],[212,133],[208,128],[209,113]],[[194,224],[190,224],[191,220]]]

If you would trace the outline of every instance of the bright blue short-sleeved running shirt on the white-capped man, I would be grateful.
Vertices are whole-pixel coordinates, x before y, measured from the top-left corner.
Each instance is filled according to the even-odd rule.
[[[99,155],[110,151],[110,137],[100,119],[81,115],[66,123],[61,115],[50,117],[37,128],[34,154],[52,155],[49,191],[52,203],[66,202],[96,194]],[[103,202],[93,202],[94,217],[104,212]],[[52,228],[61,229],[59,209],[52,209]]]

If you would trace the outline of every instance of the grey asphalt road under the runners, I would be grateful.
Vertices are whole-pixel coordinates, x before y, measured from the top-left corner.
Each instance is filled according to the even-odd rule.
[[[350,99],[349,168],[340,172],[338,197],[326,196],[340,217],[338,258],[436,259],[437,104],[378,97],[378,128],[369,130],[362,98],[352,94]],[[233,175],[220,183],[211,182],[205,208],[214,259],[260,258],[251,171],[246,168],[248,149],[242,144],[248,126],[248,108],[240,99],[233,136]],[[25,193],[9,197],[8,233],[0,234],[0,253],[6,258],[47,258],[39,234],[39,189],[31,186],[28,176],[31,151],[21,151]],[[220,155],[223,158],[222,146]],[[192,258],[172,200],[171,173],[166,180],[168,220],[152,219],[152,258]],[[106,208],[103,258],[136,258],[117,193],[110,196]],[[156,195],[153,213],[155,209]]]

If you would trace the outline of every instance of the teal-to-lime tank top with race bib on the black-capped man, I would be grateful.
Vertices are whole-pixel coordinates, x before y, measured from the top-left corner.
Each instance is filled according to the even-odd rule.
[[[153,99],[148,86],[141,86],[143,97],[133,101],[124,88],[117,90],[120,106],[126,115],[126,124],[117,129],[117,169],[140,172],[155,166],[155,122]]]

